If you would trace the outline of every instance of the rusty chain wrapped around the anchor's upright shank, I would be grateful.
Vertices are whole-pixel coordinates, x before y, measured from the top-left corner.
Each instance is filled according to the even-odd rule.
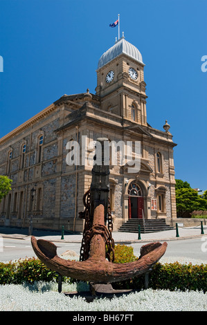
[[[85,261],[89,258],[91,239],[95,234],[100,234],[107,246],[106,257],[109,261],[114,261],[114,239],[112,238],[112,216],[111,206],[108,198],[108,228],[105,225],[90,225],[90,201],[91,201],[91,189],[89,189],[83,196],[84,212],[80,212],[79,216],[85,219],[84,230],[82,235],[82,243],[80,248],[80,261]],[[112,253],[112,258],[111,258]]]

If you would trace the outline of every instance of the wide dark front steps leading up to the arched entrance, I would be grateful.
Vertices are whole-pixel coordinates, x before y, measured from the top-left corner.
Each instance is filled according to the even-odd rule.
[[[144,221],[143,219],[129,219],[118,229],[118,232],[138,232],[138,225],[140,225],[142,234],[174,229],[166,225],[165,219],[144,219]]]

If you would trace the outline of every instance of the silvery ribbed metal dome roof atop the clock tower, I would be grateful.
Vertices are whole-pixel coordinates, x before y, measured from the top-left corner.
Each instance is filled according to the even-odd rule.
[[[139,52],[138,48],[136,48],[136,46],[134,46],[133,44],[129,43],[129,41],[126,41],[125,37],[121,37],[120,39],[118,39],[118,41],[116,41],[114,46],[111,46],[109,50],[102,54],[98,61],[98,69],[102,66],[105,66],[105,64],[111,62],[113,59],[123,53],[125,55],[128,55],[129,57],[132,57],[132,59],[135,59],[137,62],[143,64],[143,57]]]

